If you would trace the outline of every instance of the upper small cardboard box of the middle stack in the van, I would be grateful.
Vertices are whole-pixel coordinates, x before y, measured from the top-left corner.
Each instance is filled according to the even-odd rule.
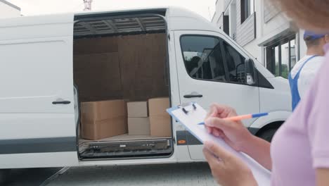
[[[127,103],[129,118],[148,117],[148,101],[134,101]]]

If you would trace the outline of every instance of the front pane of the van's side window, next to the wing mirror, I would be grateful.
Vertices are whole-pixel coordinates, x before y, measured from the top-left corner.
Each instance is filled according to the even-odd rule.
[[[230,82],[245,83],[245,58],[228,43],[223,44]]]

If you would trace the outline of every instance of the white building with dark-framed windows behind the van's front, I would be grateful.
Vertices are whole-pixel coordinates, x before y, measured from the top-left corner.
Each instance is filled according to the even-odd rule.
[[[277,76],[288,77],[306,52],[304,32],[267,0],[217,0],[212,23]]]

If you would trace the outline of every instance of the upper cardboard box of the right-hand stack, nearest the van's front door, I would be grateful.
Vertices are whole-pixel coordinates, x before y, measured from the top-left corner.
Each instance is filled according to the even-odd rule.
[[[169,108],[169,98],[154,98],[148,100],[148,109],[150,116],[168,116],[167,109]]]

